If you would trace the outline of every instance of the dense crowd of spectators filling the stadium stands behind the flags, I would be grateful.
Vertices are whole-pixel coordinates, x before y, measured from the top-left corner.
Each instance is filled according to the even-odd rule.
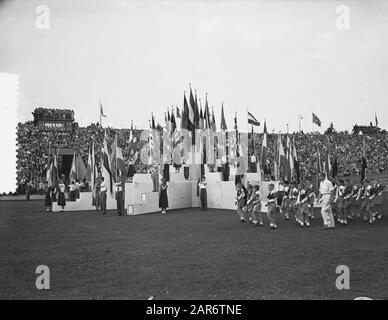
[[[37,109],[39,110],[39,109]],[[95,143],[96,160],[100,159],[103,147],[104,132],[107,134],[107,145],[111,147],[118,134],[118,145],[123,150],[125,161],[129,162],[130,156],[140,152],[145,142],[140,141],[141,130],[134,130],[136,142],[129,142],[130,129],[102,128],[99,124],[90,124],[76,131],[47,131],[40,130],[32,121],[19,123],[17,126],[17,184],[19,192],[23,186],[30,182],[32,189],[37,190],[39,183],[45,180],[48,162],[47,150],[53,152],[57,148],[77,148],[86,164],[89,148],[92,141]],[[283,137],[284,138],[284,137]],[[388,134],[379,133],[364,136],[366,145],[366,160],[368,172],[383,173],[388,171]],[[268,158],[273,167],[274,150],[276,149],[277,134],[268,135]],[[339,132],[328,135],[322,134],[296,134],[295,146],[298,153],[301,177],[309,179],[316,175],[318,150],[323,154],[326,147],[332,148],[332,156],[338,159],[338,175],[357,175],[361,169],[363,154],[363,136]],[[260,158],[262,134],[255,134],[255,150]],[[286,147],[286,141],[283,145]],[[249,144],[251,146],[251,144]],[[252,150],[249,150],[251,153]],[[333,163],[333,159],[332,159]],[[134,163],[136,173],[146,173],[149,169],[143,164],[140,157]]]

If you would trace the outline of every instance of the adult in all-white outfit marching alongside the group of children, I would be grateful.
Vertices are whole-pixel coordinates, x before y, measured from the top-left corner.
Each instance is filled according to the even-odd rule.
[[[323,172],[319,173],[319,195],[318,202],[322,203],[322,220],[323,220],[323,229],[329,230],[334,229],[335,222],[332,212],[332,204],[334,197],[334,186],[333,183],[327,179],[326,175]]]

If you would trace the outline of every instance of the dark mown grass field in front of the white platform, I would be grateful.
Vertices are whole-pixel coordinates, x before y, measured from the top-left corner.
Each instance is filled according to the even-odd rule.
[[[388,214],[323,231],[320,218],[270,230],[223,210],[117,217],[0,201],[0,212],[2,299],[388,299]],[[342,264],[350,290],[335,286]],[[38,265],[50,290],[35,288]]]

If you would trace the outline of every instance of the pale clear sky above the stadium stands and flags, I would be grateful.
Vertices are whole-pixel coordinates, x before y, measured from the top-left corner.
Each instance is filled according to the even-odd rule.
[[[39,5],[48,29],[37,27]],[[336,8],[349,8],[339,29]],[[81,126],[99,120],[146,128],[189,83],[217,125],[247,128],[246,110],[269,131],[311,131],[311,113],[337,130],[388,128],[388,2],[40,0],[0,4],[0,72],[18,75],[17,119],[35,107],[71,108]],[[258,128],[261,131],[263,126]]]

